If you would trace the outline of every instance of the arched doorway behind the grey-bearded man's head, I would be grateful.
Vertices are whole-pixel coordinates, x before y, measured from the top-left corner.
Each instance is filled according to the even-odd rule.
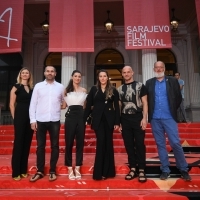
[[[177,72],[176,58],[169,49],[157,49],[157,60],[165,63],[165,75],[175,75]]]

